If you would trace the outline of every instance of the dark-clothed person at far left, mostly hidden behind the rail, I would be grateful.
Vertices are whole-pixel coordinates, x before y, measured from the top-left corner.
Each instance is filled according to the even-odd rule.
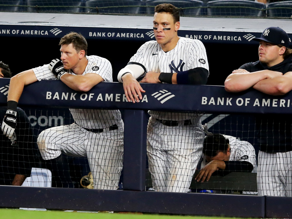
[[[1,61],[0,78],[11,78],[11,75],[8,65]],[[1,120],[6,112],[7,107],[0,107]],[[22,185],[40,158],[37,156],[36,138],[27,115],[19,107],[16,113],[17,129],[12,138],[0,136],[0,185]]]

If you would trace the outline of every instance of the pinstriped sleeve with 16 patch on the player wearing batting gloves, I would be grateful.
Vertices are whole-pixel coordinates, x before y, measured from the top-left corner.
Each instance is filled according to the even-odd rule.
[[[84,74],[95,73],[100,75],[106,82],[112,82],[112,65],[109,60],[97,55],[86,57],[88,60]]]

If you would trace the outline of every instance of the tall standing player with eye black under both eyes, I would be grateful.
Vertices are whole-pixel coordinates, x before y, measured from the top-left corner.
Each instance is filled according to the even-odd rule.
[[[128,101],[139,102],[143,83],[206,84],[208,60],[199,40],[178,36],[179,9],[155,7],[156,41],[143,44],[118,74]],[[138,79],[138,80],[137,80]],[[187,192],[201,156],[204,131],[196,113],[149,111],[147,155],[155,191]]]

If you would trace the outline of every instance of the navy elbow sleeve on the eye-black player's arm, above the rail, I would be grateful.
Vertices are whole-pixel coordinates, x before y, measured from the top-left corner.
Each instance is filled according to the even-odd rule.
[[[209,71],[205,68],[197,67],[187,71],[178,72],[176,80],[178,84],[206,84]]]

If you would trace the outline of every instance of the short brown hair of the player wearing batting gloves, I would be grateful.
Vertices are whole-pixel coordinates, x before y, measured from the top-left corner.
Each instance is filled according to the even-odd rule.
[[[60,40],[59,45],[69,45],[73,44],[73,48],[79,53],[81,50],[85,51],[85,55],[87,54],[87,42],[82,34],[78,34],[76,32],[70,32],[63,36]]]

